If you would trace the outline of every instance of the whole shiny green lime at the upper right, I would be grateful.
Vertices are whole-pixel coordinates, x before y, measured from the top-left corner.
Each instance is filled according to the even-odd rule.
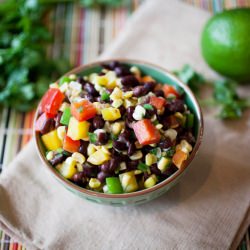
[[[201,49],[215,71],[250,82],[250,8],[226,10],[211,17],[202,32]]]

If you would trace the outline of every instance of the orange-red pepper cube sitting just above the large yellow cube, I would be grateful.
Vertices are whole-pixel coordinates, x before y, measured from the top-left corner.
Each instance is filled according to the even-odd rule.
[[[71,114],[80,122],[94,117],[96,112],[95,106],[88,100],[71,103]]]

